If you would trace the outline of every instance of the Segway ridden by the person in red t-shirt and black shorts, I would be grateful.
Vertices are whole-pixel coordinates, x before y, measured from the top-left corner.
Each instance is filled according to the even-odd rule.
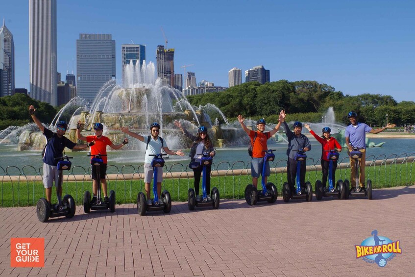
[[[97,201],[92,203],[91,202],[91,193],[89,191],[85,191],[84,193],[84,212],[89,213],[91,210],[106,210],[110,209],[113,213],[115,212],[115,191],[111,190],[109,193],[109,201],[105,202],[101,200],[101,176],[100,174],[100,166],[103,164],[103,160],[101,157],[106,155],[96,154],[91,155],[88,153],[88,157],[93,157],[91,159],[91,165],[95,166],[97,172],[97,184],[98,184],[98,191],[97,191]],[[104,176],[105,177],[105,176]]]

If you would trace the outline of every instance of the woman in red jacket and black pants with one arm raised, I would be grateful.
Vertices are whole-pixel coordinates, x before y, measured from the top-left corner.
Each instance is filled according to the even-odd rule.
[[[342,146],[340,143],[331,136],[330,132],[331,129],[329,127],[324,127],[322,129],[323,135],[319,137],[311,128],[310,125],[305,124],[304,127],[306,127],[310,133],[317,139],[319,143],[321,143],[321,169],[323,172],[323,188],[327,190],[326,184],[327,184],[327,176],[329,174],[329,163],[330,160],[327,158],[327,153],[330,150],[337,149],[338,152],[342,151]],[[335,178],[336,178],[336,168],[337,168],[337,161],[333,161],[333,174],[332,174],[332,181],[333,185],[335,185]]]

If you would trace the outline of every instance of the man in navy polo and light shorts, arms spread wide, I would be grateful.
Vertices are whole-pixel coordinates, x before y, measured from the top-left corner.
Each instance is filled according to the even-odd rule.
[[[50,198],[52,196],[53,181],[55,182],[55,187],[57,189],[59,180],[59,172],[57,169],[58,160],[55,160],[55,158],[62,157],[62,152],[65,147],[69,149],[80,150],[94,145],[95,142],[91,142],[90,145],[78,145],[73,143],[71,140],[64,136],[66,130],[68,129],[68,125],[65,121],[59,121],[59,123],[56,125],[56,133],[54,133],[42,125],[39,119],[35,116],[35,111],[36,109],[33,107],[33,105],[30,105],[30,116],[48,140],[45,148],[45,153],[43,154],[43,185],[46,191],[46,200],[49,202],[49,204],[51,204]],[[62,187],[60,188],[59,194],[62,197]]]

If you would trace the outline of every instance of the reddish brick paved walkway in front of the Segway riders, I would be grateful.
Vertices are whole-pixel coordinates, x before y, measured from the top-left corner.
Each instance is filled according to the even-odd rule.
[[[171,213],[116,212],[41,223],[35,207],[0,209],[1,276],[415,276],[415,186],[375,190],[374,200],[174,203]],[[150,227],[151,226],[151,227]],[[377,229],[402,254],[381,268],[354,245]],[[44,268],[11,268],[11,237],[45,237]]]

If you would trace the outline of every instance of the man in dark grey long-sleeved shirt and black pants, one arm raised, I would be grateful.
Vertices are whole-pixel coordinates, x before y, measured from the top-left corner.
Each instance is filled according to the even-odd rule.
[[[290,127],[285,122],[285,111],[280,112],[280,118],[282,118],[282,126],[284,126],[285,134],[288,138],[288,149],[287,149],[287,180],[290,185],[292,192],[295,191],[295,176],[297,175],[297,161],[295,155],[297,151],[303,149],[304,151],[311,150],[310,140],[301,133],[303,125],[301,122],[294,122],[294,132],[290,130]],[[306,161],[300,161],[300,184],[301,187],[305,186],[305,173],[306,173]]]

